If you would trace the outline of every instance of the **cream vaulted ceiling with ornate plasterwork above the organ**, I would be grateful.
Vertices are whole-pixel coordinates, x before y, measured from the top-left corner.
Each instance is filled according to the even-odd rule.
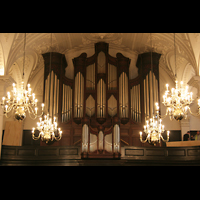
[[[51,46],[52,36],[52,46]],[[68,76],[73,78],[72,59],[86,52],[94,53],[94,43],[109,43],[110,54],[121,52],[131,59],[132,71],[140,53],[151,50],[150,33],[27,33],[25,52],[25,82],[33,82],[35,88],[43,84],[44,62],[42,54],[56,51],[65,54],[68,62]],[[192,75],[199,75],[200,33],[176,34],[176,60],[178,79],[189,81]],[[161,77],[168,75],[174,80],[174,34],[152,33],[153,51],[161,53]],[[10,74],[20,83],[23,71],[24,33],[0,33],[0,73]],[[190,75],[189,73],[190,72]],[[71,73],[71,74],[70,74]],[[135,72],[134,72],[135,73]],[[134,78],[134,73],[132,78]],[[39,89],[38,89],[39,90]]]

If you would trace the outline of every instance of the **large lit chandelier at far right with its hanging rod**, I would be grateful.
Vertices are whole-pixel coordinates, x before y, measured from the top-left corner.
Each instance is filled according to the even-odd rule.
[[[175,33],[174,33],[174,56],[175,56],[175,88],[169,91],[169,84],[166,84],[166,91],[163,95],[163,104],[167,107],[166,115],[170,116],[170,119],[177,121],[187,118],[188,111],[190,111],[190,104],[193,102],[192,92],[188,92],[188,86],[183,87],[183,82],[178,84],[176,74],[176,45],[175,45]],[[198,101],[198,109],[200,113],[200,101]]]

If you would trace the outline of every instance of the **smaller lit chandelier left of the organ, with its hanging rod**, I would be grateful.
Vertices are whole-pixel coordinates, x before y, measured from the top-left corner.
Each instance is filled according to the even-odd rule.
[[[51,47],[52,47],[52,34],[51,34]],[[51,54],[50,52],[50,67],[49,67],[49,74],[50,74],[50,80],[49,80],[49,89],[51,88]],[[50,92],[49,92],[49,99],[50,99]],[[35,136],[35,127],[32,129],[32,138],[33,140],[38,140],[41,138],[42,141],[48,143],[49,141],[53,141],[54,139],[56,141],[59,141],[62,138],[62,131],[60,128],[57,127],[57,118],[54,116],[54,121],[52,122],[52,118],[49,116],[49,110],[50,110],[50,103],[48,106],[48,113],[47,115],[44,115],[44,118],[42,120],[42,117],[40,118],[40,122],[37,122],[37,130],[39,131],[39,135]]]

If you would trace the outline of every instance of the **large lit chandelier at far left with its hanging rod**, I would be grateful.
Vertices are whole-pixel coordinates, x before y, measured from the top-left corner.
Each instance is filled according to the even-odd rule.
[[[32,93],[30,84],[27,85],[27,90],[24,87],[24,66],[25,66],[25,46],[26,46],[26,33],[24,36],[24,59],[23,59],[23,76],[21,87],[17,90],[15,83],[13,83],[13,90],[7,92],[7,96],[2,98],[1,106],[3,108],[4,115],[9,118],[11,111],[14,112],[14,117],[17,120],[24,120],[26,118],[26,112],[29,113],[31,119],[36,119],[42,116],[44,110],[44,104],[42,104],[42,113],[38,115],[38,100],[35,99],[35,94]]]

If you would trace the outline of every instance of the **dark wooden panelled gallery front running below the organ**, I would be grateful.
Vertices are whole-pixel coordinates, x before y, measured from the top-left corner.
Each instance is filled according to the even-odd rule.
[[[107,157],[106,157],[107,156]],[[89,158],[96,158],[91,154]],[[81,147],[2,146],[0,165],[200,165],[198,147],[121,147],[121,159],[81,159]]]

